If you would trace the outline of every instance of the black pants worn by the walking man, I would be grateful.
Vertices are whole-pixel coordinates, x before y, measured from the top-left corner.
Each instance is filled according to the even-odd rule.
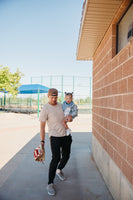
[[[49,181],[48,184],[53,183],[56,169],[62,170],[69,157],[71,151],[72,136],[64,137],[50,137],[52,160],[49,166]]]

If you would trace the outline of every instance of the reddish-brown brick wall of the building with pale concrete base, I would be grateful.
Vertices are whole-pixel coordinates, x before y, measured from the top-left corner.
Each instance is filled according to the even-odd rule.
[[[93,59],[93,156],[109,188],[110,162],[119,171],[116,199],[122,199],[117,197],[122,193],[123,177],[133,192],[133,40],[116,54],[116,23],[110,26]]]

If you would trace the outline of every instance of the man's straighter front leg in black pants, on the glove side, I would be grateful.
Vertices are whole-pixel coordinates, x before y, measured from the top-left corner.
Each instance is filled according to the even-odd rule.
[[[50,137],[52,160],[49,166],[49,181],[48,184],[53,183],[57,165],[60,161],[60,138]]]

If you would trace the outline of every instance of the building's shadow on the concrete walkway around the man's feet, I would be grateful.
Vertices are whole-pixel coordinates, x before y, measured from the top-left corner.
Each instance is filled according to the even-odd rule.
[[[112,200],[91,155],[92,134],[72,133],[71,158],[64,168],[67,179],[55,178],[57,194],[50,197],[46,186],[51,150],[46,134],[44,165],[34,161],[39,133],[0,170],[0,200]]]

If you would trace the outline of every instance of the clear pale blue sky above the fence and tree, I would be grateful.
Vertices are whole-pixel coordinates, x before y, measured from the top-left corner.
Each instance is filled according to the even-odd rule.
[[[0,0],[0,65],[31,76],[90,76],[92,62],[77,61],[84,0]]]

